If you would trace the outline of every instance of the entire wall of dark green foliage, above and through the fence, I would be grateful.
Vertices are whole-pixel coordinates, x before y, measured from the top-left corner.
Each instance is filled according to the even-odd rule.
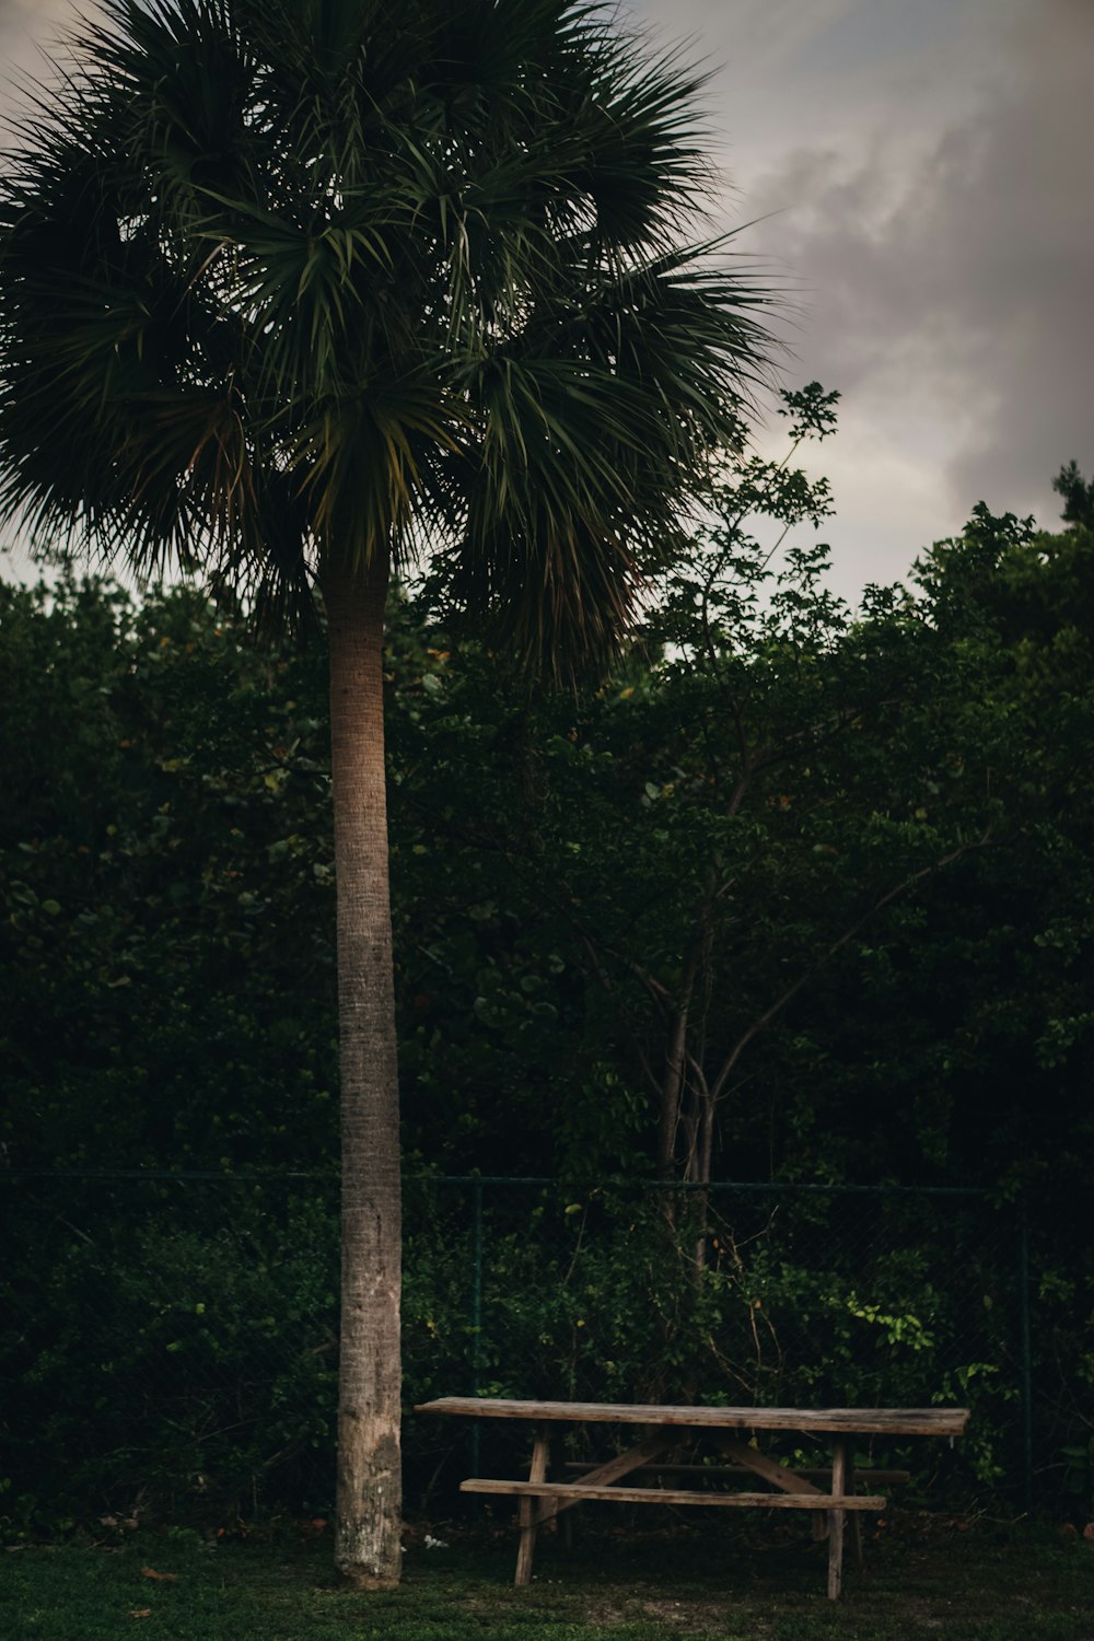
[[[830,425],[818,391],[787,410]],[[430,587],[392,602],[408,1400],[960,1395],[1007,1480],[1022,1201],[1038,1465],[1083,1498],[1094,537],[981,507],[851,612],[823,484],[751,463],[710,504],[595,693],[531,694]],[[777,574],[756,514],[809,527]],[[331,1190],[151,1172],[333,1170],[321,663],[189,587],[0,601],[20,1511],[320,1506]],[[569,1182],[487,1201],[477,1321],[472,1200],[430,1185],[476,1172]],[[996,1206],[761,1213],[723,1178]]]

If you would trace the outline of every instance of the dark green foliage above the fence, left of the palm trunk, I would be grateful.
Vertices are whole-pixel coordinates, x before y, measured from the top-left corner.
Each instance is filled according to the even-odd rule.
[[[323,671],[192,587],[0,584],[8,1165],[336,1162]]]

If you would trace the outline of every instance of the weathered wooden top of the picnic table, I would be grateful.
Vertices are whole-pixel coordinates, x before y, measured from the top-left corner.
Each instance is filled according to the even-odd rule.
[[[507,1401],[440,1396],[415,1413],[479,1419],[559,1419],[576,1424],[682,1424],[689,1429],[840,1431],[856,1436],[960,1436],[968,1408],[681,1408],[645,1401]]]

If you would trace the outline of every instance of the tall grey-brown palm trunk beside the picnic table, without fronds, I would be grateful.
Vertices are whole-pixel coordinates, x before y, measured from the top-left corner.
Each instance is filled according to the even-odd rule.
[[[399,1076],[384,771],[387,565],[323,573],[330,632],[338,1017],[341,1351],[335,1566],[399,1582],[402,1224]]]

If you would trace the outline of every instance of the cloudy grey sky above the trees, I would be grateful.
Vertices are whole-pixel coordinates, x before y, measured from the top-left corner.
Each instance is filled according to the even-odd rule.
[[[36,46],[74,10],[0,0],[0,138],[15,77],[41,71]],[[722,223],[751,223],[740,253],[794,305],[791,384],[843,394],[823,451],[838,589],[904,574],[979,499],[1051,525],[1060,464],[1094,466],[1089,0],[622,0],[622,15],[709,64]]]

